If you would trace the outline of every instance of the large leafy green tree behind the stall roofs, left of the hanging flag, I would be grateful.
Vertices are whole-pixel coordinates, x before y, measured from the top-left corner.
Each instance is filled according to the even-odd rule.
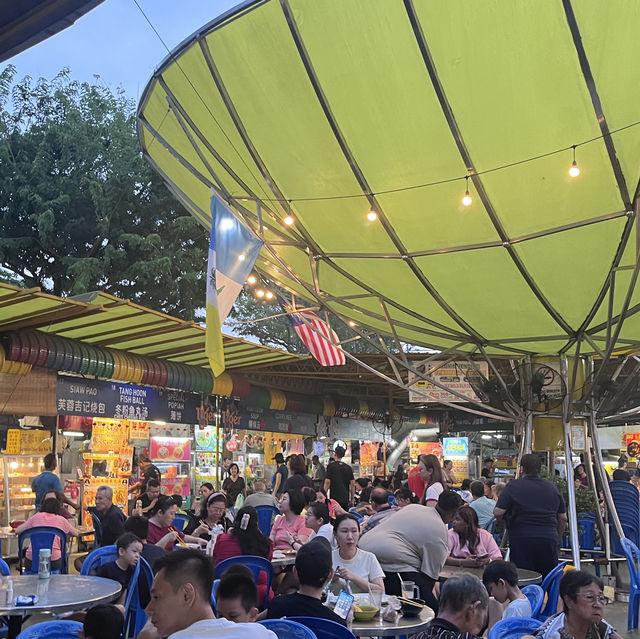
[[[134,107],[67,69],[0,73],[0,279],[194,319],[207,232],[143,159]]]

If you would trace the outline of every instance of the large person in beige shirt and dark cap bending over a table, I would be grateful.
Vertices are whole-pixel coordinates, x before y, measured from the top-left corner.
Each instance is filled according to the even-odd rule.
[[[409,504],[360,539],[360,548],[372,552],[385,572],[387,594],[401,594],[399,575],[418,586],[420,598],[437,614],[433,586],[449,556],[447,524],[463,504],[458,493],[445,490],[434,508]]]

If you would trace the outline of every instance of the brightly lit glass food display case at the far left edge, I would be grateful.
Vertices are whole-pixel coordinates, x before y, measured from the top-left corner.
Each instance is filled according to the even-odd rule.
[[[4,477],[0,495],[0,525],[25,521],[35,511],[36,496],[31,482],[42,472],[41,456],[3,455],[0,459]]]

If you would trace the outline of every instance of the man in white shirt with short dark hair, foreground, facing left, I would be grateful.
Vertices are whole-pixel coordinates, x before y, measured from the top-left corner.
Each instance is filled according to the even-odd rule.
[[[213,563],[197,550],[167,553],[154,564],[156,576],[146,612],[168,639],[276,639],[255,623],[216,619],[211,608]]]

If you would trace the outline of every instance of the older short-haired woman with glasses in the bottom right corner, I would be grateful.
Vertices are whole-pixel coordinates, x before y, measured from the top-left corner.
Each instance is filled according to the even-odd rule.
[[[621,639],[603,618],[605,598],[598,577],[569,570],[560,580],[564,611],[549,617],[535,631],[539,639]]]

